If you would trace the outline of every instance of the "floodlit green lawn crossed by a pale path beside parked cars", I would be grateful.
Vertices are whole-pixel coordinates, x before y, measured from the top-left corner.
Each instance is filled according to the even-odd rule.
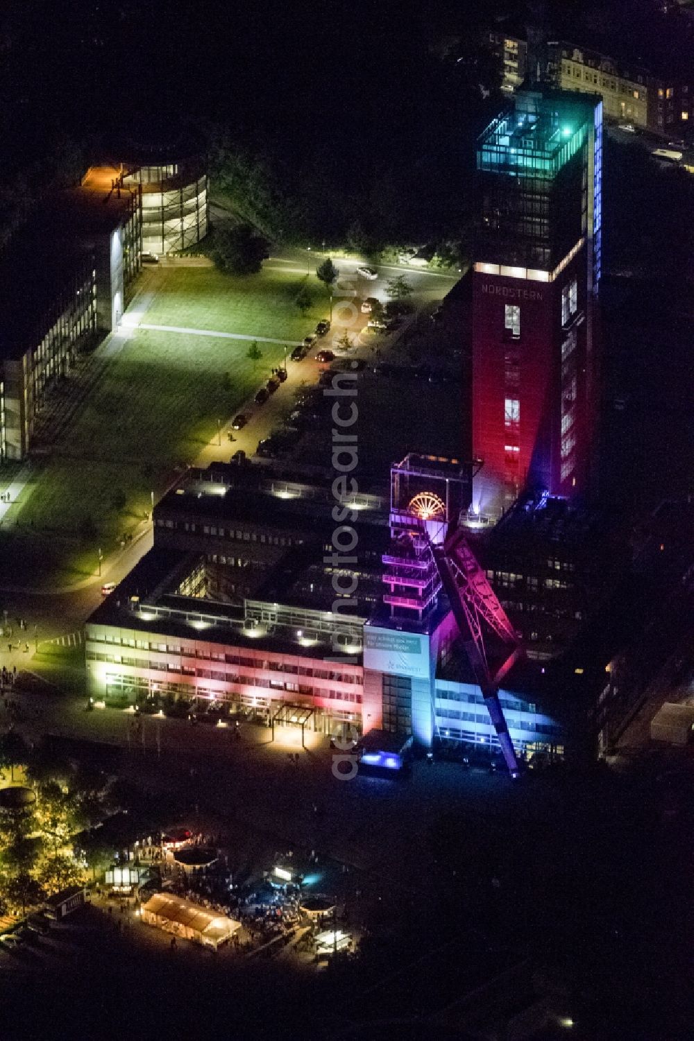
[[[274,271],[241,279],[163,268],[143,322],[298,341],[322,313],[297,310],[302,281]],[[15,581],[20,568],[32,583],[36,569],[61,582],[94,574],[96,550],[107,553],[135,528],[151,491],[168,486],[177,463],[195,460],[217,421],[226,422],[283,357],[279,345],[261,350],[254,364],[244,340],[135,330],[13,508],[19,527],[0,541],[0,562],[14,559]],[[22,553],[18,560],[20,536],[43,540],[39,559]]]

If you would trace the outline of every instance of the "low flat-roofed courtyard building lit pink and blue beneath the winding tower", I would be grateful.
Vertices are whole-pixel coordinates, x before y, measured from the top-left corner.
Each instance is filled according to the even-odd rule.
[[[460,468],[448,464],[451,477]],[[421,617],[391,613],[392,509],[378,496],[347,497],[355,550],[337,552],[331,496],[328,482],[292,482],[261,466],[192,472],[154,510],[154,548],[86,623],[91,694],[165,713],[176,703],[243,710],[315,734],[350,725],[426,747],[498,747],[443,594]],[[408,581],[398,566],[396,585]],[[530,696],[524,690],[511,671],[499,691],[519,752],[563,751],[561,723],[531,683]]]

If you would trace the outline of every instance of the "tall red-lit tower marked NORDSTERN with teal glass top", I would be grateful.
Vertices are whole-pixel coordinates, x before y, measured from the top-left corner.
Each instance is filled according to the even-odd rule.
[[[602,104],[521,92],[477,144],[473,509],[586,492],[595,426]]]

